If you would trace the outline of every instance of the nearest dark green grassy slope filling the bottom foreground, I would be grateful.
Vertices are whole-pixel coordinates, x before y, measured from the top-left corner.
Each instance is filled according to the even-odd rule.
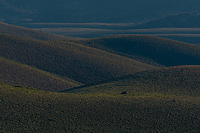
[[[79,95],[0,84],[0,131],[194,132],[199,103],[197,97]]]

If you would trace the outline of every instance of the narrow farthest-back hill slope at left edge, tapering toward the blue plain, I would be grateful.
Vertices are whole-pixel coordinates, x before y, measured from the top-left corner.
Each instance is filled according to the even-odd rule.
[[[73,37],[60,36],[55,34],[50,34],[46,32],[41,32],[37,30],[32,30],[20,26],[14,26],[0,22],[0,33],[11,34],[36,40],[68,40],[75,39]]]

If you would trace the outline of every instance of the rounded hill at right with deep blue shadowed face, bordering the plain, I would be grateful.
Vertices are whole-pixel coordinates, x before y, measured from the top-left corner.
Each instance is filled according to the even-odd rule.
[[[200,65],[200,47],[161,37],[122,35],[79,40],[87,46],[153,60],[164,66]]]

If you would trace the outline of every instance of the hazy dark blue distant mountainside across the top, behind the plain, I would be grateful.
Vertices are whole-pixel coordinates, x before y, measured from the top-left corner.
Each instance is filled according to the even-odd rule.
[[[135,23],[199,11],[197,0],[0,0],[7,23]]]

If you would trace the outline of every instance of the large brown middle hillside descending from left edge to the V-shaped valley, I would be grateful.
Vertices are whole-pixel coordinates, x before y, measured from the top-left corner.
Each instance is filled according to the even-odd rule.
[[[83,84],[157,68],[75,43],[0,34],[0,56]]]

